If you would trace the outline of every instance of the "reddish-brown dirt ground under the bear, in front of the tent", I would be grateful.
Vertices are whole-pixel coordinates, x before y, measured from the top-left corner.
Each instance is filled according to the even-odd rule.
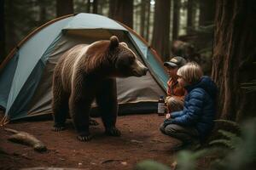
[[[72,122],[68,120],[67,130],[61,133],[51,131],[52,121],[15,122],[5,127],[31,133],[46,144],[48,150],[38,153],[32,147],[15,144],[8,140],[11,133],[0,128],[0,169],[24,167],[73,167],[84,169],[132,169],[146,159],[171,165],[172,146],[177,139],[160,133],[159,125],[164,116],[156,114],[119,116],[117,127],[121,137],[109,137],[100,125],[90,127],[93,139],[80,142]]]

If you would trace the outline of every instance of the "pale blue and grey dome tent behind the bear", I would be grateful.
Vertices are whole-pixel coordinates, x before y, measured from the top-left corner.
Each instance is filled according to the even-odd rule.
[[[149,69],[144,77],[117,79],[119,114],[156,111],[160,95],[166,94],[168,77],[154,50],[117,21],[98,14],[72,14],[40,26],[0,65],[0,105],[5,118],[49,115],[52,73],[61,54],[76,44],[113,35],[126,42]]]

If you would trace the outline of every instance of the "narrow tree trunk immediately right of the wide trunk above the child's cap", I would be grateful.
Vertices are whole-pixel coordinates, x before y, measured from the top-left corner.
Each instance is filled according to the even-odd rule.
[[[179,29],[180,0],[173,1],[172,41],[177,40]]]

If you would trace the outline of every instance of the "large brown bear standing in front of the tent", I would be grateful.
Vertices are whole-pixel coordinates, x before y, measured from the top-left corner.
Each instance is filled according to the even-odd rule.
[[[69,112],[78,139],[90,140],[90,105],[96,99],[105,133],[119,136],[115,127],[118,113],[115,77],[142,77],[147,71],[131,48],[115,36],[69,49],[58,60],[53,75],[54,130],[64,130]]]

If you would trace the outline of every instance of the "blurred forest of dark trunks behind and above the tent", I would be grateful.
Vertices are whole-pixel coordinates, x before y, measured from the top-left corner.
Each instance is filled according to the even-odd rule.
[[[22,38],[66,14],[102,14],[134,29],[162,60],[181,55],[207,63],[212,56],[214,0],[0,0],[1,58]],[[86,22],[86,21],[85,21]]]

